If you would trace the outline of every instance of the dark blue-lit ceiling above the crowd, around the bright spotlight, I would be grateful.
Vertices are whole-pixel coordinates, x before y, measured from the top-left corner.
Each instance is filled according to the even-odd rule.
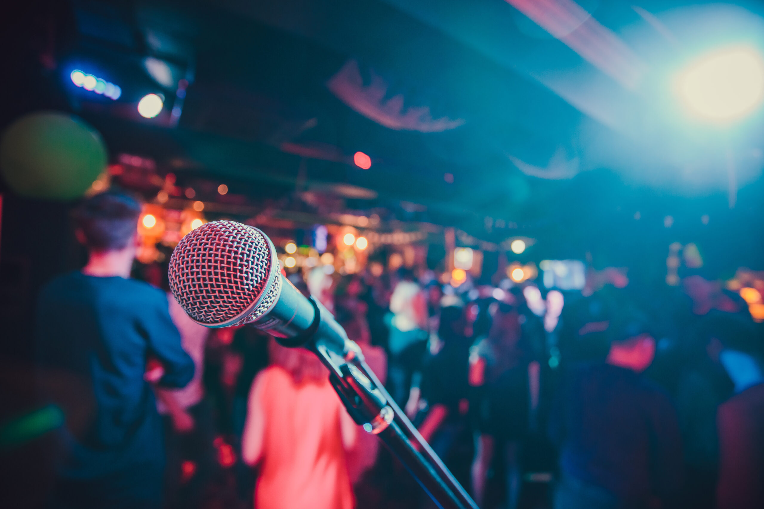
[[[636,211],[659,227],[666,214],[728,217],[732,153],[735,213],[759,210],[746,204],[758,202],[761,115],[723,131],[698,124],[670,87],[709,47],[764,47],[755,2],[30,5],[19,8],[31,30],[4,37],[24,40],[12,63],[40,82],[18,85],[4,123],[68,108],[113,155],[239,185],[251,200],[329,190],[348,210],[387,208],[494,242],[553,236],[564,252],[598,229],[620,234]],[[166,66],[159,79],[147,57]],[[76,89],[75,68],[120,84],[120,100]],[[134,107],[150,92],[167,107],[146,120]],[[359,150],[371,169],[352,163]]]

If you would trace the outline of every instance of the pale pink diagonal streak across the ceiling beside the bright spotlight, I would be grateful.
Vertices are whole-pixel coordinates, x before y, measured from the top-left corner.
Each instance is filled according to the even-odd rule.
[[[506,0],[555,39],[626,89],[641,82],[645,64],[623,40],[572,0]]]

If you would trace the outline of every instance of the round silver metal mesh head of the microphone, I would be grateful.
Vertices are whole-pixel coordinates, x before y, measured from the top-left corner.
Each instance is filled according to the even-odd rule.
[[[280,294],[277,275],[270,240],[235,221],[202,224],[170,257],[173,295],[189,317],[212,327],[248,323],[270,310]]]

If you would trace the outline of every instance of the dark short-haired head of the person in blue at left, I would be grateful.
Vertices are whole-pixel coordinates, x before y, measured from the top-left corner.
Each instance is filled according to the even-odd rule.
[[[86,198],[74,211],[76,236],[89,251],[125,249],[138,234],[141,205],[129,195],[104,192]]]

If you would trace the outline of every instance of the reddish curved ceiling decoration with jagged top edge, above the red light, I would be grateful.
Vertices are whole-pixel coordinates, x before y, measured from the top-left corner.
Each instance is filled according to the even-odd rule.
[[[364,86],[358,61],[348,60],[342,69],[326,83],[329,90],[345,105],[394,130],[418,130],[420,133],[441,133],[465,123],[463,118],[455,120],[443,117],[433,119],[429,107],[409,107],[403,113],[403,95],[394,95],[383,101],[387,94],[387,82],[371,71],[371,83]]]

